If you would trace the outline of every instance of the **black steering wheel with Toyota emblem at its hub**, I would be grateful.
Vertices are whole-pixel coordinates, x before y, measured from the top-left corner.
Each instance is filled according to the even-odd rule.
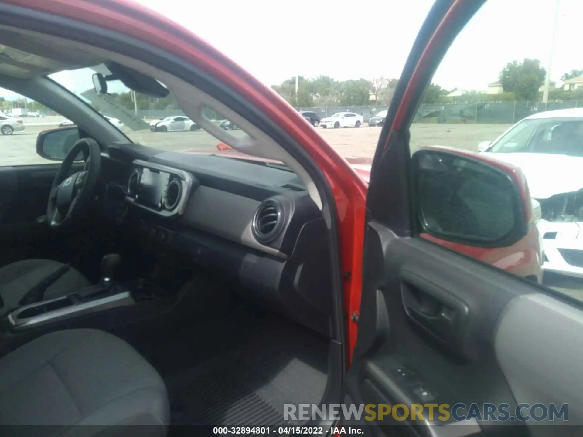
[[[73,161],[83,153],[83,171],[68,176]],[[52,228],[62,228],[82,216],[93,198],[101,169],[101,152],[97,142],[82,138],[73,145],[59,167],[48,197],[47,217]]]

